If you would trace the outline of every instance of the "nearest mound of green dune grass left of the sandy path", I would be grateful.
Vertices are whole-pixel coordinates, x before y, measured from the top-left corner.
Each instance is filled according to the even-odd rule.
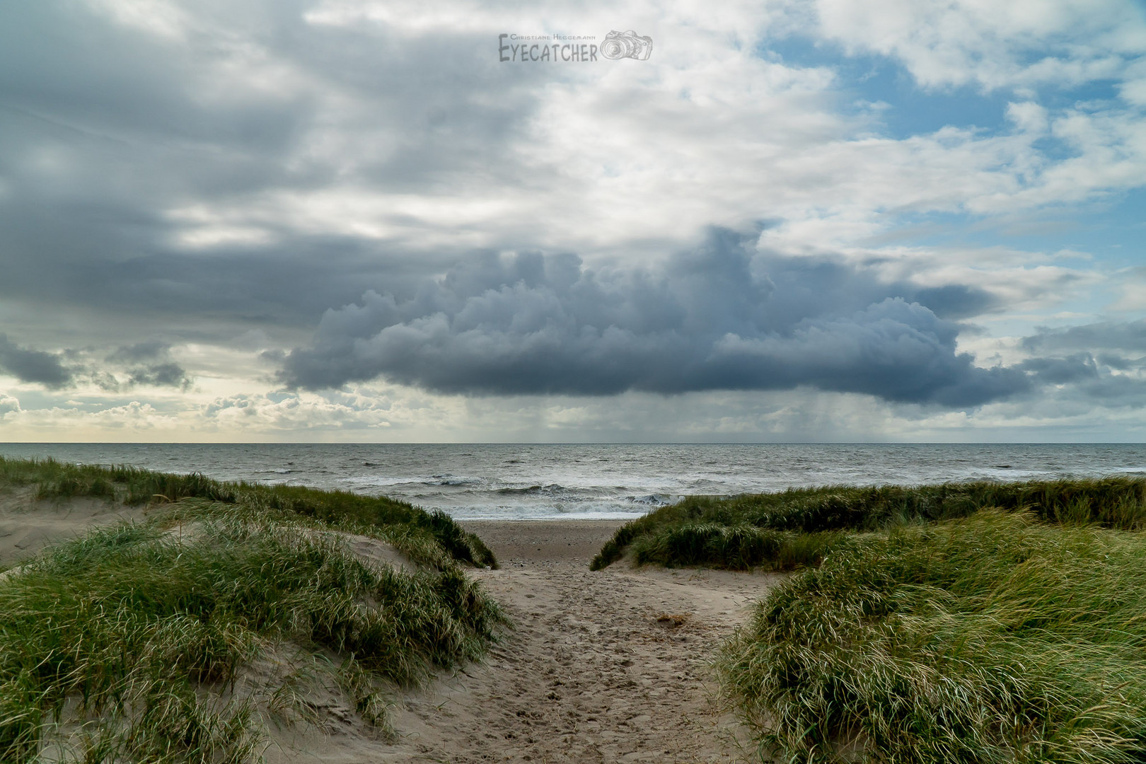
[[[191,533],[165,525],[95,530],[5,574],[0,762],[38,761],[61,724],[80,725],[71,755],[91,764],[252,761],[275,702],[235,679],[288,643],[340,656],[337,682],[385,730],[387,687],[476,659],[504,622],[456,565],[368,566],[329,534],[218,509]]]

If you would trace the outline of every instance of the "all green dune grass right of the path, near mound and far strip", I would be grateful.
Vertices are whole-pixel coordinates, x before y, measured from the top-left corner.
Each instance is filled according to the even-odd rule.
[[[688,498],[592,567],[800,569],[720,661],[766,757],[1141,762],[1144,529],[1140,478],[825,487]]]

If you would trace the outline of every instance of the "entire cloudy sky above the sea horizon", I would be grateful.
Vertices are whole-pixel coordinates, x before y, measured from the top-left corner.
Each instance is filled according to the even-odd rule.
[[[0,7],[2,441],[1143,441],[1144,404],[1136,0]]]

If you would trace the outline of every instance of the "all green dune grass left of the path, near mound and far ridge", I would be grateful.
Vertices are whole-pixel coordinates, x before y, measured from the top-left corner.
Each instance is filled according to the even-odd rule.
[[[6,764],[253,762],[268,722],[322,722],[307,687],[340,688],[392,738],[394,691],[478,659],[508,625],[462,567],[496,560],[444,513],[0,457],[0,491],[29,486],[148,511],[0,573]],[[280,668],[253,680],[259,661]]]

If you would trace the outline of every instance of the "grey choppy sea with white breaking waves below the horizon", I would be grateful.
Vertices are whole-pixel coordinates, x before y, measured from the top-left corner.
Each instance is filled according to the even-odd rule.
[[[793,486],[1146,474],[1137,443],[0,443],[0,455],[385,495],[466,520],[633,519],[689,494]]]

